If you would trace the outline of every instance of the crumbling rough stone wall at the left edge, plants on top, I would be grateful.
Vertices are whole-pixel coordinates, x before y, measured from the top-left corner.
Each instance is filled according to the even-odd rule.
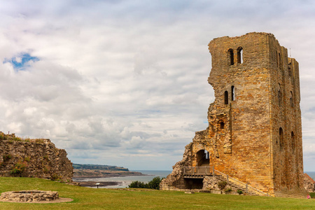
[[[0,176],[23,176],[71,182],[72,162],[49,139],[20,139],[0,132]]]

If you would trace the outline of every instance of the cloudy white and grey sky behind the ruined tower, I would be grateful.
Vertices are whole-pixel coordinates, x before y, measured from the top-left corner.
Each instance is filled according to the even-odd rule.
[[[165,169],[207,128],[208,43],[269,32],[300,63],[315,171],[315,1],[1,1],[0,130],[75,163]]]

